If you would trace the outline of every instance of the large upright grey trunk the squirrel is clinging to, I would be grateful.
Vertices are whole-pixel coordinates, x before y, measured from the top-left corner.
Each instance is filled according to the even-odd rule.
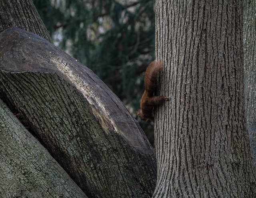
[[[153,197],[256,197],[242,31],[243,1],[156,1],[160,94],[170,102],[156,111]]]

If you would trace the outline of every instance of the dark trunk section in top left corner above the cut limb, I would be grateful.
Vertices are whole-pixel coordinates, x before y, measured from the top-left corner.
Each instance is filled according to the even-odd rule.
[[[18,27],[52,42],[32,0],[0,0],[0,30]]]

